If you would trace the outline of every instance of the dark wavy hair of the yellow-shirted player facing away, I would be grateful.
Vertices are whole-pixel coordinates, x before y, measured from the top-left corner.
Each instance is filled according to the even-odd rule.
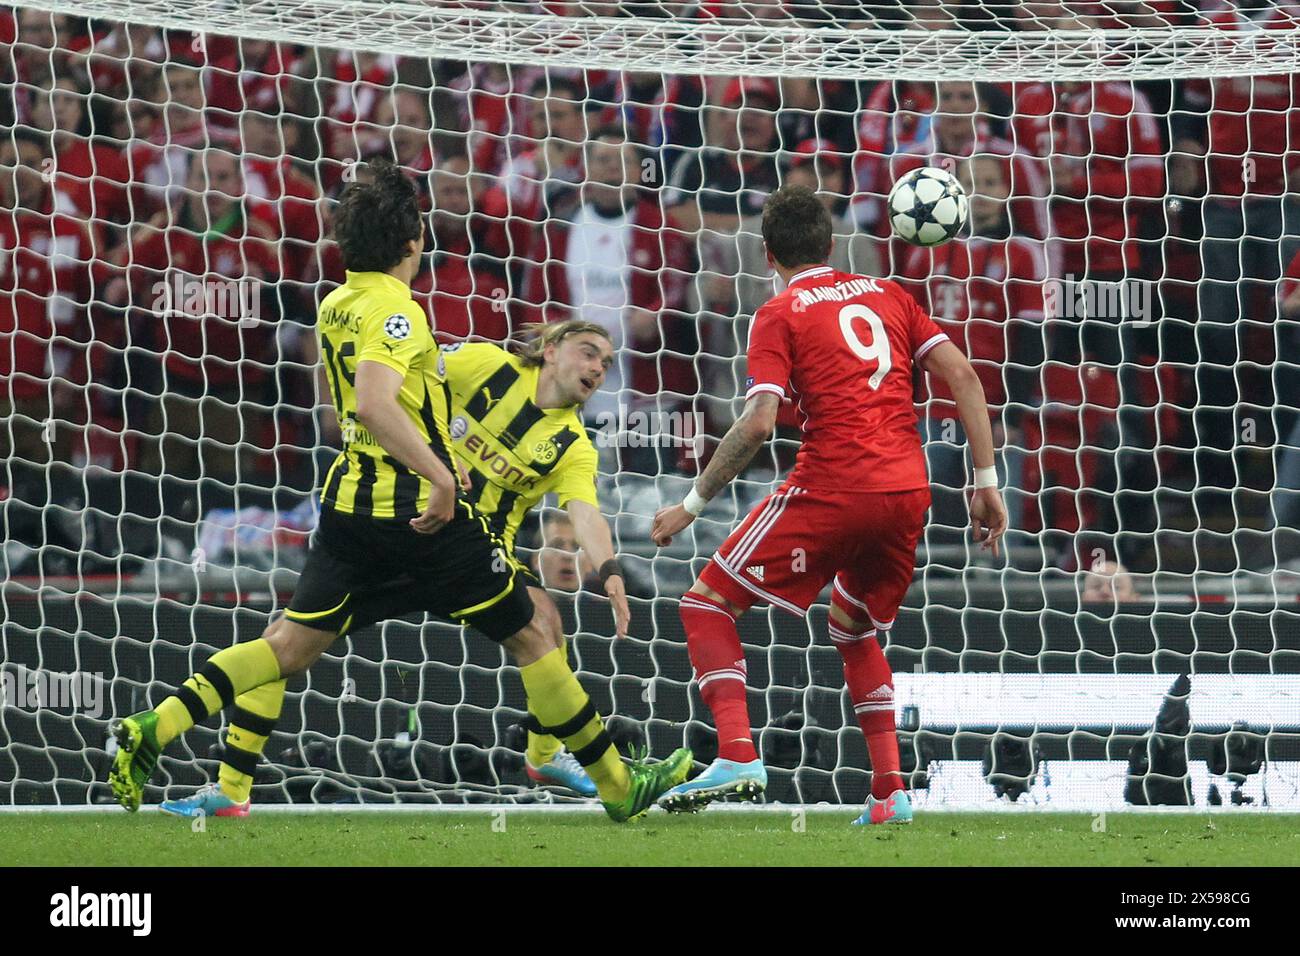
[[[421,234],[415,183],[386,159],[358,169],[334,212],[334,241],[350,272],[387,272]]]

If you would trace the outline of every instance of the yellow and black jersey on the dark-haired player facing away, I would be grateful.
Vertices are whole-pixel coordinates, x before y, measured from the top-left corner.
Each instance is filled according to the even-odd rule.
[[[321,506],[369,518],[415,518],[429,502],[429,481],[389,455],[356,420],[355,385],[360,362],[400,372],[398,403],[451,468],[450,392],[424,310],[393,276],[348,272],[347,282],[321,300],[316,337],[343,433]]]

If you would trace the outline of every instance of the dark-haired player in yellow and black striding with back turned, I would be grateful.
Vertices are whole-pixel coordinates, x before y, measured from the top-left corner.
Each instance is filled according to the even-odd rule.
[[[391,164],[372,168],[335,213],[347,282],[321,302],[317,336],[344,447],[325,477],[294,597],[261,637],[218,650],[157,708],[114,724],[113,795],[138,809],[162,748],[233,708],[239,744],[228,735],[225,769],[247,779],[224,779],[211,806],[239,816],[239,795],[225,790],[251,784],[285,679],[311,667],[358,620],[355,606],[378,593],[389,610],[370,604],[367,613],[390,617],[416,601],[500,643],[519,665],[532,714],[586,769],[610,817],[630,819],[685,779],[690,752],[623,762],[568,666],[558,615],[534,606],[523,567],[488,518],[458,497],[446,363],[411,298],[424,248],[416,190]],[[404,587],[394,591],[394,581]],[[247,812],[247,791],[242,805]]]

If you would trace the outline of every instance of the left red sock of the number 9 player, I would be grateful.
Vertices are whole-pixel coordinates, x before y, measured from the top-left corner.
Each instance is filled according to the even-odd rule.
[[[718,756],[740,763],[757,760],[745,700],[745,650],[736,618],[716,601],[694,593],[681,598],[680,613],[699,696],[718,727]]]

